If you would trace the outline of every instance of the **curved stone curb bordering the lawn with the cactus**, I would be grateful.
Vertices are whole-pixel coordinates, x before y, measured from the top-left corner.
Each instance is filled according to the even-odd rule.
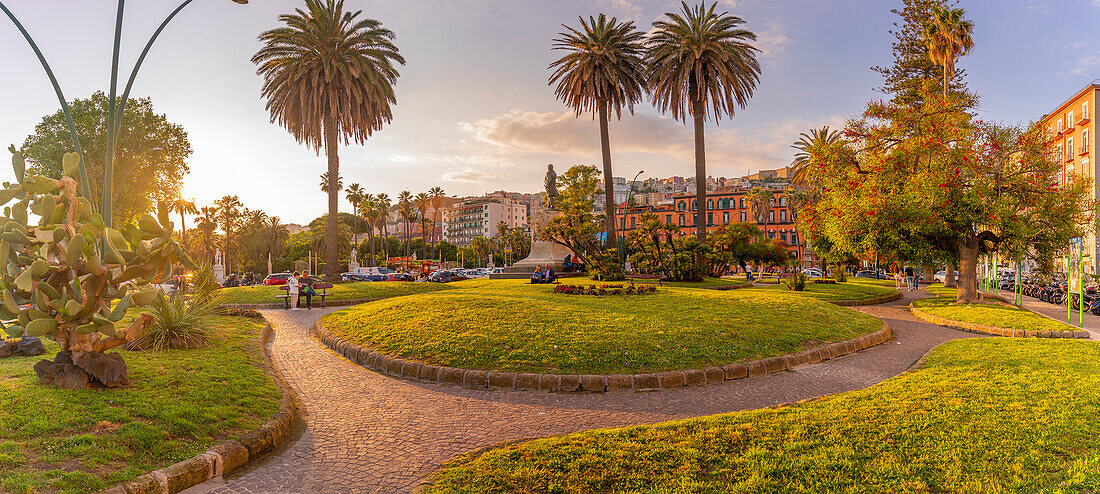
[[[301,405],[286,378],[275,370],[271,352],[267,350],[267,340],[271,334],[272,325],[265,321],[264,329],[260,333],[261,353],[268,373],[283,389],[283,399],[279,400],[278,411],[274,416],[239,440],[227,439],[212,446],[205,453],[100,492],[103,494],[176,494],[210,479],[232,472],[278,447],[290,433],[294,421],[301,410]]]

